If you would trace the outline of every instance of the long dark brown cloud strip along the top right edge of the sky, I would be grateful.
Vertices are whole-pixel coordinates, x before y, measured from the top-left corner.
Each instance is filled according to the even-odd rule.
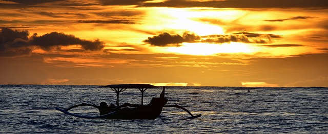
[[[227,0],[227,1],[189,1],[169,0],[159,3],[143,3],[142,7],[213,7],[213,8],[319,8],[328,9],[326,0]]]

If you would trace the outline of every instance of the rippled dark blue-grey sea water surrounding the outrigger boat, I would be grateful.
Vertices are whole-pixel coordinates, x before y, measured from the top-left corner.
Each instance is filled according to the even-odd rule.
[[[250,93],[247,90],[250,89]],[[144,103],[161,88],[148,89]],[[139,90],[120,94],[120,103],[140,103]],[[325,87],[193,87],[168,86],[168,104],[155,120],[81,119],[54,107],[101,101],[116,94],[90,85],[0,85],[0,133],[328,133],[328,88]],[[98,116],[97,109],[71,110]]]

